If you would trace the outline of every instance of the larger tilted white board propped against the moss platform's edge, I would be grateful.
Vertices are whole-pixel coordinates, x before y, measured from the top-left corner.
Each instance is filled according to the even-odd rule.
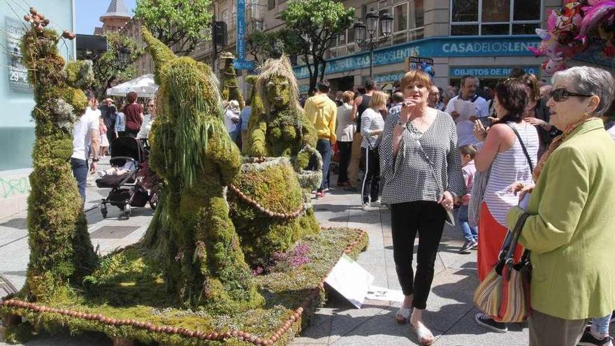
[[[374,276],[344,254],[325,282],[360,309]]]

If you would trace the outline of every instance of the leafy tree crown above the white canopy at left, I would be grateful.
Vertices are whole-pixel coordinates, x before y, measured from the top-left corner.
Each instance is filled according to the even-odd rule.
[[[102,98],[108,88],[126,80],[131,80],[136,75],[136,70],[131,66],[133,62],[143,54],[143,48],[127,36],[117,33],[107,34],[107,51],[94,59],[94,90],[96,96]],[[128,64],[120,62],[120,50],[129,51]]]

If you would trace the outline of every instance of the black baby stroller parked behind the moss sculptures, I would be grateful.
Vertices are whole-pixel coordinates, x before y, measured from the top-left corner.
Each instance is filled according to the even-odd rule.
[[[146,153],[140,140],[119,137],[111,142],[110,164],[120,170],[117,172],[120,174],[106,174],[96,179],[96,186],[111,189],[107,198],[101,201],[103,218],[107,217],[107,204],[124,210],[124,215],[129,218],[131,207],[143,208],[152,199],[137,179],[137,173],[145,159]],[[150,202],[150,208],[155,209],[156,203]]]

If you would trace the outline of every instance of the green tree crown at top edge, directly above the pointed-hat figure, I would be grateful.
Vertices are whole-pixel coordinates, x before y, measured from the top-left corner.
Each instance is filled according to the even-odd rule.
[[[135,17],[177,55],[189,55],[209,39],[212,0],[137,0]]]

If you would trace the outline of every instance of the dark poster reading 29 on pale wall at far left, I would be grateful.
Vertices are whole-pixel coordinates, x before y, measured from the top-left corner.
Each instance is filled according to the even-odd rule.
[[[22,22],[13,17],[4,17],[6,28],[6,69],[8,69],[8,89],[12,92],[31,93],[28,82],[28,69],[22,65],[20,41],[24,34]]]

